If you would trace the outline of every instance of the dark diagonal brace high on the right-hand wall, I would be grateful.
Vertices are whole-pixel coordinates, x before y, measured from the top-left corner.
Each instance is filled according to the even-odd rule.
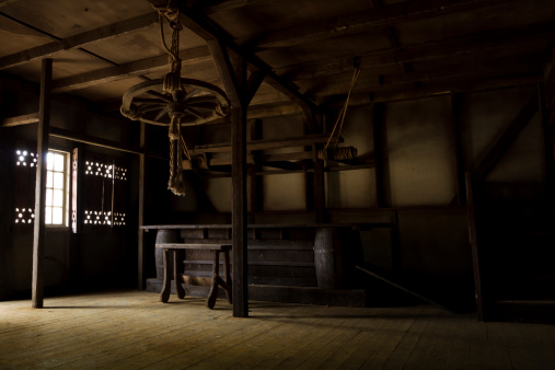
[[[534,93],[507,129],[494,141],[487,152],[474,165],[474,171],[472,172],[474,181],[479,182],[487,176],[495,164],[507,152],[512,142],[514,142],[530,119],[532,119],[532,117],[537,113],[537,107],[539,99]]]

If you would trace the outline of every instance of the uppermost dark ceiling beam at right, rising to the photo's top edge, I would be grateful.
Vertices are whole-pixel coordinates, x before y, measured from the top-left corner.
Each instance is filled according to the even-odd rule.
[[[425,20],[459,11],[496,5],[510,0],[420,0],[404,1],[381,9],[357,12],[317,22],[313,25],[269,32],[247,42],[255,50],[315,43],[370,30],[381,30],[401,22]]]

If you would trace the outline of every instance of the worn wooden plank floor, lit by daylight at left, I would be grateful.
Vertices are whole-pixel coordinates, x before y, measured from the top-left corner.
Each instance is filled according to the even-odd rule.
[[[554,369],[555,326],[441,309],[252,302],[117,292],[0,302],[0,369]]]

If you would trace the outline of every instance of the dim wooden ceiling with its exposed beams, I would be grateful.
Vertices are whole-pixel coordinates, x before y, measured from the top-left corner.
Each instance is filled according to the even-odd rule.
[[[158,0],[160,2],[162,0]],[[169,71],[157,0],[0,0],[0,70],[108,109]],[[553,0],[181,1],[182,76],[222,86],[206,39],[240,53],[265,80],[251,108],[395,101],[543,81]],[[165,28],[166,37],[170,30]]]

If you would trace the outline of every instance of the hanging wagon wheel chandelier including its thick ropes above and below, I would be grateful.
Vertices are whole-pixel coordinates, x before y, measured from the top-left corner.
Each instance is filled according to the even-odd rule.
[[[210,83],[181,77],[180,11],[171,0],[166,5],[154,7],[159,13],[162,46],[169,54],[171,71],[163,79],[139,83],[123,95],[122,114],[132,120],[167,126],[170,137],[170,181],[167,188],[175,195],[185,195],[182,158],[189,160],[183,126],[206,124],[228,115],[229,101],[226,93]],[[172,45],[164,38],[164,20],[172,28]]]

